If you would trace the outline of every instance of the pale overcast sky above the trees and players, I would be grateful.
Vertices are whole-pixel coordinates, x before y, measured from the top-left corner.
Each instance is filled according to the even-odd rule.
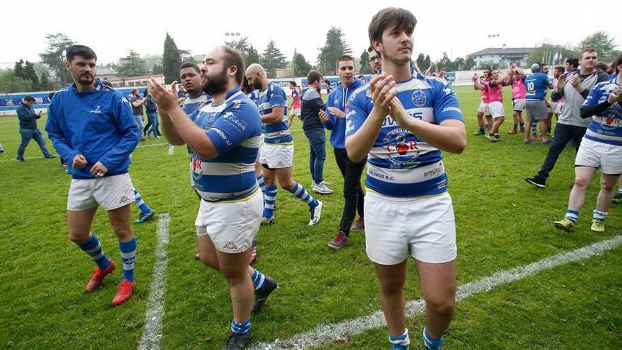
[[[408,8],[418,24],[415,52],[440,59],[491,47],[533,47],[543,41],[575,45],[604,30],[622,45],[622,25],[612,2],[597,1],[3,1],[0,66],[22,58],[38,62],[45,33],[65,33],[95,49],[99,62],[117,61],[134,49],[162,54],[165,33],[180,49],[204,54],[221,45],[225,33],[249,37],[259,52],[274,40],[291,59],[294,49],[311,64],[331,26],[341,28],[356,57],[368,47],[367,27],[385,6]],[[514,4],[512,4],[512,2]],[[608,12],[596,4],[609,6]],[[246,4],[252,4],[246,6]],[[493,4],[492,6],[490,4]],[[517,5],[520,4],[520,7]],[[543,5],[546,4],[546,5]],[[426,10],[418,9],[426,5]],[[499,34],[494,40],[488,35]]]

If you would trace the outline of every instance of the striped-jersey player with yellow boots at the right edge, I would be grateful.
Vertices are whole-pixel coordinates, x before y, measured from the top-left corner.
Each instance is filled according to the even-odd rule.
[[[616,60],[616,66],[622,68],[622,55]],[[622,174],[622,76],[594,86],[581,107],[581,117],[592,117],[592,121],[577,152],[575,185],[570,191],[568,211],[562,220],[555,222],[555,227],[574,230],[589,182],[600,168],[600,192],[592,214],[592,231],[604,232],[607,209]]]

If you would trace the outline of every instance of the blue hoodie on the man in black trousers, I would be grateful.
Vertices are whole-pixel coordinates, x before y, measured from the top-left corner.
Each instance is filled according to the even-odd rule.
[[[341,83],[337,84],[336,88],[328,95],[326,103],[328,120],[323,124],[324,127],[332,130],[330,141],[334,148],[346,148],[346,119],[331,115],[328,111],[328,107],[337,107],[344,111],[344,113],[347,113],[350,95],[362,86],[365,86],[363,81],[354,79],[353,83],[351,83],[347,88],[344,88]]]

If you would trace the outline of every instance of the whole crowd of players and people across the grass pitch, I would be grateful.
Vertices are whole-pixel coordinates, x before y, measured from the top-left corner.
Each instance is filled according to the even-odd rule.
[[[262,224],[278,224],[278,187],[307,205],[309,226],[319,223],[324,204],[311,192],[334,192],[323,174],[325,129],[329,129],[329,142],[344,177],[341,221],[329,247],[342,248],[348,245],[351,231],[365,229],[389,346],[396,350],[409,349],[410,344],[404,284],[408,257],[413,257],[426,301],[423,346],[442,349],[443,334],[454,314],[457,257],[442,152],[462,153],[467,134],[457,95],[445,73],[437,70],[430,76],[431,66],[421,72],[410,64],[416,23],[413,13],[403,8],[376,13],[368,28],[369,62],[375,74],[366,82],[356,76],[353,57],[339,57],[335,62],[339,83],[326,103],[318,92],[325,83],[318,71],[307,74],[308,84],[302,90],[290,83],[288,104],[283,88],[267,78],[264,67],[245,66],[240,52],[225,46],[211,49],[201,67],[182,65],[180,86],[175,82],[166,88],[150,79],[145,94],[134,90],[127,100],[95,77],[97,55],[92,49],[69,47],[66,67],[74,83],[52,98],[45,129],[72,176],[67,199],[69,239],[96,264],[86,291],[102,286],[105,276],[115,270],[90,231],[95,211],[102,206],[117,235],[123,265],[112,303],[120,305],[134,293],[136,237],[129,204],[136,202],[141,208],[134,223],[153,218],[154,211],[132,185],[130,155],[148,131],[160,137],[160,128],[171,145],[186,145],[189,153],[190,185],[199,199],[194,208],[198,210],[196,258],[228,282],[233,320],[223,349],[245,349],[252,339],[252,313],[261,310],[278,287],[276,279],[252,267],[257,259],[255,236]],[[578,59],[554,67],[553,78],[546,64],[540,63],[532,64],[531,74],[512,65],[503,75],[488,67],[483,76],[473,76],[482,98],[476,114],[477,135],[500,141],[505,121],[503,87],[512,86],[514,125],[509,134],[524,132],[525,143],[551,144],[540,172],[526,179],[529,184],[544,187],[565,144],[572,141],[577,148],[568,211],[554,223],[565,231],[575,227],[587,185],[598,168],[601,192],[592,230],[604,231],[613,188],[622,173],[622,77],[607,76],[596,63],[597,52],[585,49]],[[622,57],[611,67],[622,69]],[[550,101],[546,89],[553,90]],[[44,156],[52,158],[36,127],[40,113],[29,105],[33,101],[25,99],[18,110],[23,146],[35,138]],[[143,124],[143,107],[151,125]],[[553,115],[558,122],[551,141]],[[290,128],[297,117],[310,146],[311,192],[293,177]],[[537,122],[541,137],[532,134]],[[21,146],[20,158],[23,161]],[[363,192],[360,180],[365,165]],[[622,188],[616,198],[622,199]]]

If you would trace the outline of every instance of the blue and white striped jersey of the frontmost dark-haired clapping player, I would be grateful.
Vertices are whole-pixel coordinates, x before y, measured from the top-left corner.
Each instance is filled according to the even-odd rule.
[[[446,81],[417,74],[395,84],[406,112],[423,121],[440,124],[447,119],[464,122],[456,93]],[[346,138],[363,125],[372,111],[370,86],[354,91],[346,115]],[[447,191],[442,154],[399,127],[387,115],[368,154],[365,186],[389,197],[423,197]]]

